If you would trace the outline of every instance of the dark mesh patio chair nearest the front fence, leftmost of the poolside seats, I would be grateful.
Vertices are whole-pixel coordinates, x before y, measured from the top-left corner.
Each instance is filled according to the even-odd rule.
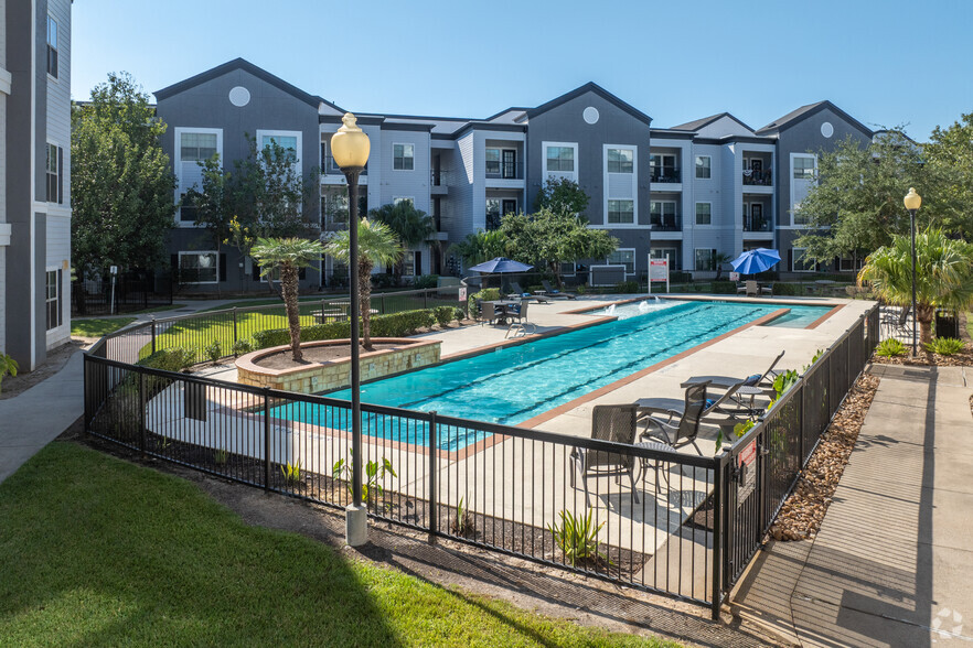
[[[632,445],[635,442],[635,421],[634,404],[595,406],[591,410],[591,439]],[[571,488],[577,487],[577,477],[580,476],[587,506],[591,506],[591,493],[588,489],[588,477],[591,476],[596,478],[613,476],[618,484],[622,475],[628,475],[632,485],[632,500],[639,504],[639,493],[635,490],[635,457],[631,454],[575,447],[569,456],[569,464]]]

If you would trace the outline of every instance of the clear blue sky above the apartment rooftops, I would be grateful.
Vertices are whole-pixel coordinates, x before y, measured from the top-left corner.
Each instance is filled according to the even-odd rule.
[[[973,0],[76,0],[72,95],[243,57],[362,112],[485,118],[590,82],[669,128],[822,99],[919,141],[973,112]]]

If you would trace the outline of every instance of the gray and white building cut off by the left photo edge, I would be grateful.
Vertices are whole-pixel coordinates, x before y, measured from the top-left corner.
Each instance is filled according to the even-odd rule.
[[[71,338],[71,0],[0,0],[0,352]]]

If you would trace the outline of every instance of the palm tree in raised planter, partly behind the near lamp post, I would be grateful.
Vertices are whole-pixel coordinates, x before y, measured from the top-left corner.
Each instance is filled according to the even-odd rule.
[[[351,237],[348,229],[335,233],[324,246],[324,253],[342,263],[350,260]],[[372,268],[397,263],[402,246],[384,223],[362,218],[359,222],[359,296],[362,305],[362,346],[372,348]]]

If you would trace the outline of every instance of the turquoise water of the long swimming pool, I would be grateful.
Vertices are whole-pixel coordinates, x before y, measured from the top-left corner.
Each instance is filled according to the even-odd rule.
[[[663,302],[637,316],[370,382],[362,386],[362,402],[516,424],[780,307],[744,302]],[[821,306],[790,307],[810,317],[809,322],[827,311]],[[803,313],[803,309],[814,313]],[[328,396],[351,399],[348,389]],[[277,408],[274,415],[346,428],[343,417],[332,410],[289,404]],[[373,436],[427,443],[423,425],[402,429],[386,417],[365,418],[365,430]],[[443,436],[443,450],[458,450],[484,434]]]

